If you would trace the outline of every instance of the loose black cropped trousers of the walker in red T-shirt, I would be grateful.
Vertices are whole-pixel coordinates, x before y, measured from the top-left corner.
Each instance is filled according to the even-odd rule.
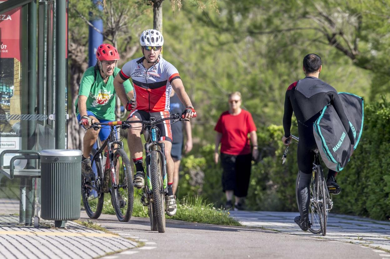
[[[221,164],[223,167],[223,192],[234,190],[235,196],[246,197],[248,195],[252,154],[229,155],[221,153]]]

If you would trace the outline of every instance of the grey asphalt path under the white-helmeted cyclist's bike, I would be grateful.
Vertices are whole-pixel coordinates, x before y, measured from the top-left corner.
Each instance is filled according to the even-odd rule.
[[[82,211],[81,220],[87,215]],[[93,220],[121,236],[145,243],[103,258],[373,258],[380,253],[360,245],[279,233],[254,227],[229,227],[167,220],[166,233],[150,230],[149,218],[118,222],[115,215]],[[390,258],[390,257],[387,257]]]

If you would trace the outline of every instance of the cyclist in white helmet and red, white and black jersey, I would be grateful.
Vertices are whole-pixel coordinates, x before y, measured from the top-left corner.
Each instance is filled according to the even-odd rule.
[[[191,100],[184,89],[179,72],[169,62],[160,57],[164,38],[158,30],[145,30],[140,36],[142,58],[136,58],[124,64],[120,73],[114,79],[115,92],[121,102],[130,112],[127,120],[149,120],[169,116],[169,97],[172,88],[177,97],[186,106],[184,118],[193,117],[196,112]],[[128,100],[123,82],[131,78],[134,86],[134,99]],[[145,183],[145,169],[142,165],[141,123],[134,123],[128,129],[128,145],[136,166],[134,187],[141,189]],[[167,215],[176,214],[177,206],[172,191],[174,162],[170,155],[172,148],[172,131],[170,121],[166,120],[158,125],[160,142],[165,143],[165,157],[167,159],[168,194],[165,195]]]

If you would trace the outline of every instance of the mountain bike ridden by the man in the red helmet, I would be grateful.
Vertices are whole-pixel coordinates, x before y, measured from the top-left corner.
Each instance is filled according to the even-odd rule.
[[[90,152],[90,161],[95,178],[92,182],[82,176],[81,194],[87,215],[98,218],[103,210],[104,194],[110,192],[112,206],[121,222],[128,222],[133,213],[133,174],[123,143],[117,138],[120,122],[93,123],[87,130],[99,130],[110,126],[110,136]],[[105,151],[106,150],[106,151]],[[103,161],[105,159],[105,162]]]

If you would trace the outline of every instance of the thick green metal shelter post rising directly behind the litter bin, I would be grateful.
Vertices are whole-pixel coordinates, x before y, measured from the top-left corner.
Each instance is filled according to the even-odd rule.
[[[65,148],[65,127],[66,127],[66,115],[65,115],[65,88],[66,88],[66,59],[65,59],[65,44],[66,44],[66,1],[55,1],[56,23],[55,23],[55,39],[56,39],[56,51],[55,51],[55,69],[56,69],[56,93],[57,100],[55,105],[55,148]]]

